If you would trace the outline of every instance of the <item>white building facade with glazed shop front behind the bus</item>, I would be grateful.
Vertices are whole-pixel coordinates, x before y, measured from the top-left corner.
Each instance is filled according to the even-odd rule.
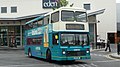
[[[1,45],[11,46],[14,39],[18,45],[22,45],[25,22],[52,11],[52,7],[58,6],[56,1],[58,0],[0,0]],[[116,33],[115,0],[67,0],[67,2],[67,6],[85,8],[88,13],[96,11],[97,14],[97,10],[105,9],[104,14],[92,14],[95,20],[89,22],[91,33],[99,35],[101,39],[107,39],[108,34]]]

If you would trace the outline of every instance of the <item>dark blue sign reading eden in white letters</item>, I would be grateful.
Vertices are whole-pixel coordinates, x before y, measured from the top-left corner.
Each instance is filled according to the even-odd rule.
[[[56,8],[58,7],[57,0],[43,0],[43,8]]]

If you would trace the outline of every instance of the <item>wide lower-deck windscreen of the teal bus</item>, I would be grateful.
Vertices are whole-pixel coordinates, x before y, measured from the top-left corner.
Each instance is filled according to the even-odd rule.
[[[62,46],[76,46],[76,45],[88,45],[89,39],[87,34],[61,34]]]

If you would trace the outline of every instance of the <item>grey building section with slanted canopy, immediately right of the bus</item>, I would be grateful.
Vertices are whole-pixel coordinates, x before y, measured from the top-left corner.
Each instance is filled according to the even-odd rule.
[[[99,19],[97,19],[97,15],[103,14],[105,9],[101,9],[98,11],[94,11],[88,13],[88,22],[89,22],[89,34],[90,34],[90,45],[94,49],[97,48],[97,24],[101,23]]]

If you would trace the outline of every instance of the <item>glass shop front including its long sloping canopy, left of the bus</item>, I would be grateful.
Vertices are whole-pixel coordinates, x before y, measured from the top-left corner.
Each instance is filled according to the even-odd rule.
[[[17,18],[0,18],[0,46],[23,46],[25,23],[43,14]]]

